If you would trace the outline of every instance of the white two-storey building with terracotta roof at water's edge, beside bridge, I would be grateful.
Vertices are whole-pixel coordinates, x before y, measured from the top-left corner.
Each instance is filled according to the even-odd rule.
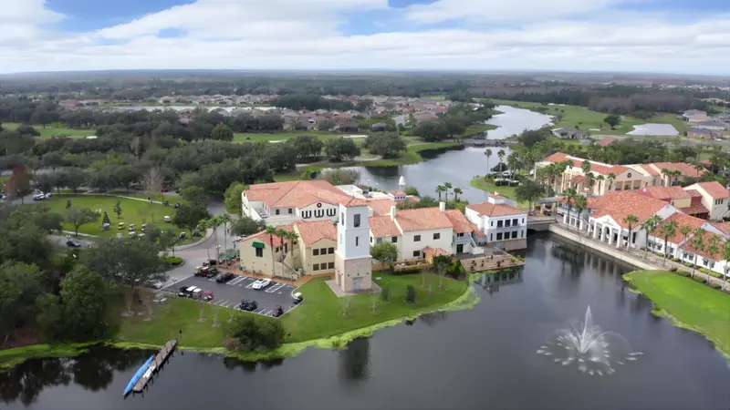
[[[482,232],[480,243],[506,251],[527,248],[527,210],[517,208],[514,200],[495,192],[486,202],[467,205],[464,213]]]

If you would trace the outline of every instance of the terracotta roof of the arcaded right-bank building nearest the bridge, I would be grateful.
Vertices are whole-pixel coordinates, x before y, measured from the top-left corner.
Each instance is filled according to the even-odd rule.
[[[596,212],[591,216],[598,219],[609,215],[622,228],[628,229],[629,226],[623,221],[628,215],[634,215],[639,219],[638,226],[665,206],[671,205],[636,191],[611,191],[596,201]]]

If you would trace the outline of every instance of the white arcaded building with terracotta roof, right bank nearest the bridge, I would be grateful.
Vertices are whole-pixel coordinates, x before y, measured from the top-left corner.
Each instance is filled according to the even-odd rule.
[[[641,231],[641,223],[653,215],[666,220],[679,210],[663,200],[657,200],[636,191],[609,192],[597,198],[589,210],[587,230],[593,239],[605,241],[616,248],[631,246],[641,249],[645,246],[647,233]],[[634,226],[626,222],[626,217],[634,215],[638,221]],[[631,238],[629,231],[631,228]]]

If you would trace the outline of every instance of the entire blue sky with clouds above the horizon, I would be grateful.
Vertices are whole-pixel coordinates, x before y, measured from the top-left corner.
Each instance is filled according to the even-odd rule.
[[[0,73],[566,70],[730,76],[730,0],[0,0]]]

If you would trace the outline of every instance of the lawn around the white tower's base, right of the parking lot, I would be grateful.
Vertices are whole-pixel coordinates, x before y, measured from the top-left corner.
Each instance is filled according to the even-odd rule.
[[[297,290],[302,292],[305,302],[284,315],[282,319],[287,333],[291,333],[287,337],[287,343],[325,338],[376,323],[428,312],[454,301],[466,291],[466,282],[447,278],[443,279],[444,287],[439,289],[438,278],[433,277],[431,273],[426,274],[427,283],[433,283],[431,294],[421,286],[422,273],[392,275],[388,272],[372,272],[373,280],[381,288],[388,288],[391,292],[390,302],[378,300],[375,313],[372,312],[370,294],[339,298],[329,289],[325,278],[314,279]],[[417,292],[416,302],[413,304],[405,302],[406,286],[409,284],[414,286]],[[349,302],[347,315],[342,314],[345,300]]]

